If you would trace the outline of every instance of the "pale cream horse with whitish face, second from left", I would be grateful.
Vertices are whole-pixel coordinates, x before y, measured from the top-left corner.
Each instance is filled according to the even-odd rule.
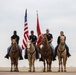
[[[29,61],[29,72],[32,71],[35,72],[36,51],[35,51],[35,46],[31,42],[31,40],[27,41],[27,56]]]

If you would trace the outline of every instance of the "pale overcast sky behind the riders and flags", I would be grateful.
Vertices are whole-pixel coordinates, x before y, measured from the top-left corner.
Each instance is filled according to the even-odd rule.
[[[19,44],[22,44],[26,8],[29,32],[34,30],[37,35],[36,10],[41,32],[45,33],[46,28],[49,28],[53,34],[54,47],[57,45],[60,31],[64,31],[72,55],[67,60],[67,66],[76,66],[76,0],[0,0],[0,67],[10,66],[10,60],[4,56],[14,30],[17,30],[20,36]],[[28,61],[25,59],[19,61],[19,66],[28,66]],[[36,66],[43,64],[37,60]],[[58,66],[58,61],[53,62],[52,66]]]

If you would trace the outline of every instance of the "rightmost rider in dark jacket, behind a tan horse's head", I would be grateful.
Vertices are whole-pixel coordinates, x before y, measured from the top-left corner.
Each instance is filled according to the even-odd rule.
[[[60,31],[60,36],[65,36],[63,31]],[[60,36],[58,36],[58,39],[57,39],[57,46],[55,48],[55,58],[56,58],[56,55],[57,55],[58,45],[60,44]],[[65,36],[65,40],[66,40],[66,36]],[[69,53],[69,47],[66,44],[65,44],[65,47],[66,47],[66,50],[67,50],[67,56],[70,57],[71,55]]]

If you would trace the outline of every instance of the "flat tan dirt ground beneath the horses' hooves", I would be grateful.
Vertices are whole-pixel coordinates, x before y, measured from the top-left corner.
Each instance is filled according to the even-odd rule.
[[[10,72],[9,67],[0,67],[0,75],[76,75],[76,67],[68,67],[67,72],[58,72],[57,67],[52,68],[52,72],[43,72],[42,67],[36,68],[36,72],[28,72],[27,67],[19,67],[19,72]]]

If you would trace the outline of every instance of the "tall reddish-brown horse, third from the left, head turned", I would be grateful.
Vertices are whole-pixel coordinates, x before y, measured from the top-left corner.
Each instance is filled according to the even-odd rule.
[[[52,64],[52,48],[50,47],[50,44],[48,43],[47,37],[45,34],[42,35],[42,49],[41,49],[41,56],[44,63],[44,69],[43,72],[45,72],[46,64],[47,63],[47,71],[51,72],[51,64]]]

